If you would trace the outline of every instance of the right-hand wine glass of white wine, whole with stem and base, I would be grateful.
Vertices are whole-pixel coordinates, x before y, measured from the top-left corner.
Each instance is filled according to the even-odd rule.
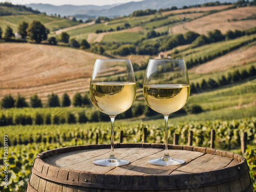
[[[151,159],[153,165],[168,166],[185,163],[168,154],[168,116],[180,110],[190,93],[187,68],[183,59],[151,59],[143,83],[143,95],[148,106],[163,114],[165,150],[161,158]]]

